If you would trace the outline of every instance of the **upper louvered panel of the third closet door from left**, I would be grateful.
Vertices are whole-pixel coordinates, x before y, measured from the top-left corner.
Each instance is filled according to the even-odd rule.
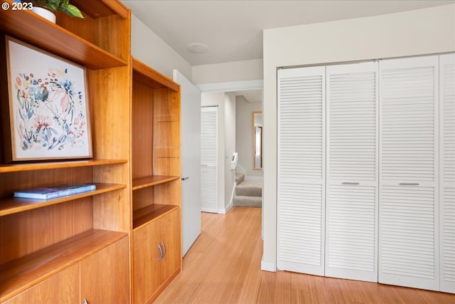
[[[382,70],[382,179],[435,180],[434,69]]]

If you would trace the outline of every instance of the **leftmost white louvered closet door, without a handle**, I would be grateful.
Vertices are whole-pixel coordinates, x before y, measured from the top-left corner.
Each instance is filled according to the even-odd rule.
[[[278,71],[277,267],[324,275],[325,67]]]

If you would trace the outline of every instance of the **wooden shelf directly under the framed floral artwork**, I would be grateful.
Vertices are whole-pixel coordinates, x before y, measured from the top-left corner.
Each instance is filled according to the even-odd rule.
[[[34,170],[93,167],[106,164],[126,164],[127,159],[90,159],[65,162],[33,162],[23,164],[0,164],[0,173],[25,172]]]

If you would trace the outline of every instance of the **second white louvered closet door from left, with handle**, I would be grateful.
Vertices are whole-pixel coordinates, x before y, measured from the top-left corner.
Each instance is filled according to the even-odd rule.
[[[330,65],[326,276],[378,281],[378,63]]]

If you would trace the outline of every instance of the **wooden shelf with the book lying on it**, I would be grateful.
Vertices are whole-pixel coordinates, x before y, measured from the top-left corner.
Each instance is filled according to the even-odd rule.
[[[55,204],[61,204],[65,201],[72,201],[73,199],[80,199],[82,197],[93,196],[96,194],[102,194],[105,192],[114,191],[117,189],[123,189],[127,187],[125,184],[102,184],[94,183],[97,186],[96,190],[89,192],[82,192],[79,194],[73,194],[68,196],[59,197],[58,199],[18,199],[14,197],[9,197],[6,199],[0,200],[0,216],[6,216],[9,214],[15,214],[18,212],[28,211],[32,209],[42,208],[44,206],[50,206]]]

